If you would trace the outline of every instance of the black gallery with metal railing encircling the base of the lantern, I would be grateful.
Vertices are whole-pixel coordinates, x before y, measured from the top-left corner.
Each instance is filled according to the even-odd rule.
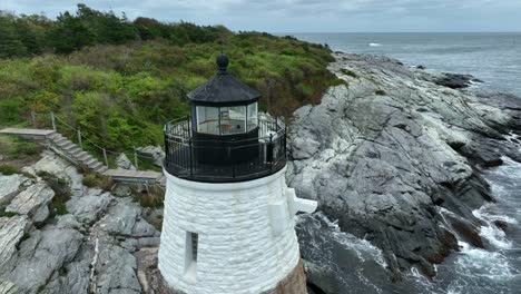
[[[286,165],[286,126],[282,119],[259,116],[258,137],[199,138],[190,117],[165,125],[165,169],[179,178],[230,183],[264,177]],[[232,136],[233,137],[233,136]],[[222,157],[215,164],[209,157]]]

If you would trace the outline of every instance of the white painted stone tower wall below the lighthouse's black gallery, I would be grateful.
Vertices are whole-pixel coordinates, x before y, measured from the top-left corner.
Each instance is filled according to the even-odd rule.
[[[294,213],[311,212],[286,186],[285,170],[249,182],[208,184],[167,175],[159,270],[187,294],[258,294],[299,261]],[[188,233],[198,234],[190,262]]]

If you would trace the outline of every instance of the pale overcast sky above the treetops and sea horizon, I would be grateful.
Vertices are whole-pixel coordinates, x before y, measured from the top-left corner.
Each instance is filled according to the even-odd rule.
[[[78,1],[0,0],[17,13],[75,11]],[[521,0],[99,0],[99,10],[268,32],[521,31]]]

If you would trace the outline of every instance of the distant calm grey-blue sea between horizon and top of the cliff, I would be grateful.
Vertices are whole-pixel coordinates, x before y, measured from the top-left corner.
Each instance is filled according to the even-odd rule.
[[[384,55],[411,66],[470,74],[482,87],[521,97],[519,33],[291,33],[333,50]]]

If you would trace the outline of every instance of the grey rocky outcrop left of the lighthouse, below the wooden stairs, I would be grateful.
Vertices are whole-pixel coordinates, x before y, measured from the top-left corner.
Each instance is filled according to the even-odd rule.
[[[0,293],[141,293],[136,256],[159,244],[146,209],[118,197],[125,189],[83,186],[75,166],[48,151],[23,169],[0,174]],[[61,193],[70,199],[58,208]]]

